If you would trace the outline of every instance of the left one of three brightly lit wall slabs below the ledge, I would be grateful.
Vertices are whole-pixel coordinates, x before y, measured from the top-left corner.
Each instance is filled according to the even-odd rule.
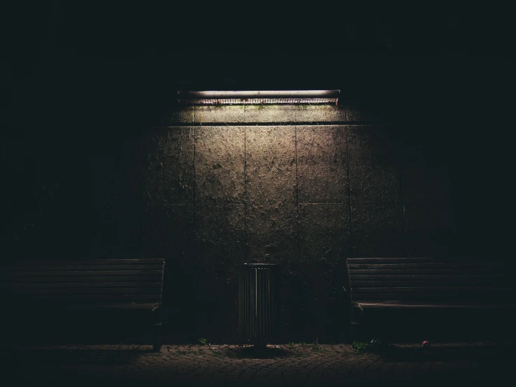
[[[195,200],[199,204],[244,202],[245,129],[195,129]]]

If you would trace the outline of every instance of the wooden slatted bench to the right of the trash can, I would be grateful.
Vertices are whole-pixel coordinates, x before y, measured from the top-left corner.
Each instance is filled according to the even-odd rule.
[[[352,340],[457,338],[513,323],[514,284],[499,263],[348,258],[347,271]]]

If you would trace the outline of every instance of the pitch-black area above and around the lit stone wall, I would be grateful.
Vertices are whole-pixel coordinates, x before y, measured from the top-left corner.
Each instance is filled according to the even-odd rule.
[[[208,8],[6,12],[4,260],[141,254],[119,238],[118,203],[140,189],[126,161],[178,89],[341,89],[341,103],[395,122],[415,162],[447,170],[448,254],[512,263],[504,10]]]

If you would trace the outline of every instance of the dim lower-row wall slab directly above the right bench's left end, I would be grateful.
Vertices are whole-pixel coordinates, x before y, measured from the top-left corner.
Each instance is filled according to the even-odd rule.
[[[403,206],[394,203],[352,203],[354,257],[405,256]]]

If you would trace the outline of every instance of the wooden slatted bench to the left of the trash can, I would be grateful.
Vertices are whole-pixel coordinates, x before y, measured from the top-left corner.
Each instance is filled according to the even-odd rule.
[[[162,258],[23,261],[4,266],[1,279],[4,301],[11,309],[30,311],[36,323],[38,316],[52,313],[152,311],[156,351],[163,272]]]

